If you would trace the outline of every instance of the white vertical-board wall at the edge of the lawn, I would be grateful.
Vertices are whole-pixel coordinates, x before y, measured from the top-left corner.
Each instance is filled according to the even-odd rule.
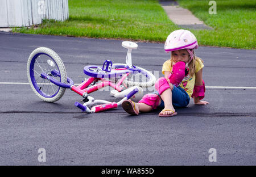
[[[0,0],[0,27],[24,27],[42,19],[68,19],[68,0]]]

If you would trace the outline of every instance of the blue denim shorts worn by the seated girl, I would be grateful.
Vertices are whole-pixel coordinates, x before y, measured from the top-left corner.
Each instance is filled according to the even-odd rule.
[[[155,91],[154,94],[159,95],[158,91]],[[190,98],[187,92],[181,87],[174,86],[174,89],[172,89],[172,105],[174,107],[186,107],[188,106],[189,101]],[[161,104],[158,106],[158,108],[164,108],[164,102],[162,99]]]

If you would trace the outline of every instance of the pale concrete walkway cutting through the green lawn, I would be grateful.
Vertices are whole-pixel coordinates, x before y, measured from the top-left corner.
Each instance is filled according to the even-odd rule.
[[[170,20],[177,24],[177,26],[193,29],[213,29],[205,25],[203,21],[196,18],[191,11],[180,7],[176,1],[159,0],[159,3],[166,11]]]

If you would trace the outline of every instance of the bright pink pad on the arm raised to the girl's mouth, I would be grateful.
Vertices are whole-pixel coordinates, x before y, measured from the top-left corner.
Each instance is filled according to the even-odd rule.
[[[174,66],[172,66],[172,73],[169,75],[170,83],[179,86],[183,78],[185,77],[185,62],[179,61],[176,62]]]

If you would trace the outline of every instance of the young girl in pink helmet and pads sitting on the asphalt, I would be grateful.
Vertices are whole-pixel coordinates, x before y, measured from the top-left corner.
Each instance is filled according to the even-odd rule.
[[[177,115],[174,107],[186,107],[192,97],[195,104],[209,104],[204,98],[203,60],[195,56],[196,37],[192,32],[179,29],[166,39],[164,50],[171,52],[171,60],[163,64],[164,77],[155,82],[156,91],[146,94],[138,102],[126,100],[123,109],[131,115],[162,108],[160,117]]]

